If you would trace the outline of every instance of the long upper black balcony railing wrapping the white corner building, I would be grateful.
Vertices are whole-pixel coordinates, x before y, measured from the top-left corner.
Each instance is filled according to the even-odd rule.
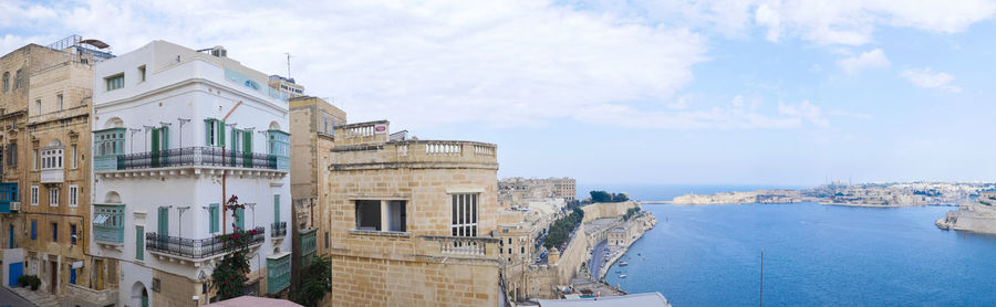
[[[185,147],[129,155],[102,156],[94,159],[94,169],[96,171],[183,166],[288,170],[290,169],[290,159],[269,154],[222,150],[217,147]]]

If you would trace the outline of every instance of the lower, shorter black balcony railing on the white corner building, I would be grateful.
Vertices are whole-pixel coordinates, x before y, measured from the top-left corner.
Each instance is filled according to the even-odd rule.
[[[249,245],[262,244],[266,230],[257,227],[256,234],[249,241]],[[163,253],[188,258],[206,258],[214,255],[220,255],[242,247],[229,243],[221,237],[208,239],[183,239],[177,236],[158,235],[154,232],[145,234],[145,248],[156,253]]]

